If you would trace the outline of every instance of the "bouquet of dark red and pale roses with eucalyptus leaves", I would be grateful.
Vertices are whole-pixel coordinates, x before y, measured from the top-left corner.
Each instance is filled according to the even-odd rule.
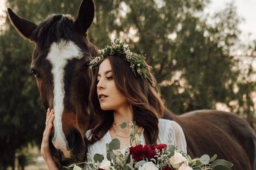
[[[125,128],[126,123],[122,123],[120,127]],[[191,159],[174,145],[142,145],[136,132],[137,126],[132,123],[131,146],[120,149],[120,141],[115,138],[106,144],[105,154],[95,154],[92,159],[87,153],[87,162],[75,163],[64,168],[82,170],[79,165],[84,164],[86,170],[231,170],[233,166],[229,161],[216,159],[217,155],[211,158],[209,155],[202,155],[200,158]],[[133,142],[135,146],[132,146]],[[107,161],[104,160],[104,155]]]

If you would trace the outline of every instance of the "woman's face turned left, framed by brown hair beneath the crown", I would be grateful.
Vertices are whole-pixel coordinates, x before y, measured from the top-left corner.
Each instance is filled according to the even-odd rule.
[[[125,97],[118,91],[113,79],[109,59],[105,59],[99,66],[97,76],[97,94],[102,110],[118,110],[126,105]]]

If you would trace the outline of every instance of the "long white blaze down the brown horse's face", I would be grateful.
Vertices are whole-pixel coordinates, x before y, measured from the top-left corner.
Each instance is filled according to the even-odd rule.
[[[83,53],[73,41],[61,40],[59,43],[51,44],[49,54],[46,59],[52,64],[53,74],[53,95],[54,95],[54,136],[52,139],[56,149],[60,149],[66,158],[70,158],[70,149],[68,141],[62,129],[62,114],[64,110],[64,68],[68,64],[68,60],[81,59]]]

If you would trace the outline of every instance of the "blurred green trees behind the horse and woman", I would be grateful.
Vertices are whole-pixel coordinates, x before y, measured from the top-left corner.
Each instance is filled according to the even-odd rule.
[[[102,48],[119,37],[146,54],[173,113],[222,106],[253,126],[256,41],[240,43],[242,18],[233,4],[210,16],[203,14],[209,0],[95,1],[90,41]],[[51,13],[76,16],[79,4],[80,0],[7,0],[6,5],[39,23]],[[245,56],[234,55],[241,47]],[[0,27],[0,170],[14,168],[15,156],[25,164],[24,147],[41,144],[45,114],[30,73],[33,48],[8,19]],[[249,64],[243,65],[245,60]]]

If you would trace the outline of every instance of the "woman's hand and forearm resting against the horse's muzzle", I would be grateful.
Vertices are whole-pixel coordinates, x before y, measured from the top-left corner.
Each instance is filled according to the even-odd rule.
[[[45,131],[43,133],[43,140],[41,144],[41,155],[44,159],[48,159],[49,157],[52,157],[49,150],[49,135],[51,132],[51,129],[53,128],[53,120],[54,120],[54,111],[53,109],[50,111],[50,109],[47,110],[46,113],[46,122],[45,122]]]

